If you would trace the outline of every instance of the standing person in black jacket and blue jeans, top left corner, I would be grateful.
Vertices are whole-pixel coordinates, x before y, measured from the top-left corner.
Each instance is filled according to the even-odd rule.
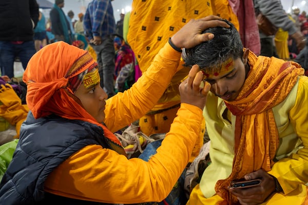
[[[21,9],[23,8],[23,9]],[[2,1],[0,3],[0,67],[1,74],[14,77],[14,60],[18,57],[26,69],[36,52],[33,29],[38,22],[35,0]]]

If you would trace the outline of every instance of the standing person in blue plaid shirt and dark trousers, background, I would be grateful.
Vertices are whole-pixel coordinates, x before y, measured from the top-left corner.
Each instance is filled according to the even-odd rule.
[[[93,0],[84,16],[84,29],[90,45],[97,54],[101,87],[112,97],[114,92],[114,46],[115,20],[110,0]]]

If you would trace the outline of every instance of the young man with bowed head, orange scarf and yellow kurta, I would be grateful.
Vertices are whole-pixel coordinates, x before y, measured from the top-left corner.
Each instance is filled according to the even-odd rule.
[[[227,22],[227,21],[226,21]],[[302,204],[308,182],[308,78],[293,61],[243,49],[236,28],[183,51],[211,84],[204,108],[210,165],[188,204]],[[230,188],[234,179],[259,186]]]

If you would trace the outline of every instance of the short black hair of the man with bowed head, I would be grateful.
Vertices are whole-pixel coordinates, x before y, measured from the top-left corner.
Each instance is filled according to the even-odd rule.
[[[230,28],[208,28],[203,33],[213,33],[213,39],[194,48],[185,49],[185,66],[192,67],[197,64],[202,70],[215,69],[214,71],[219,71],[221,64],[230,57],[242,59],[243,44],[240,34],[232,23],[227,20],[223,21],[230,25]]]

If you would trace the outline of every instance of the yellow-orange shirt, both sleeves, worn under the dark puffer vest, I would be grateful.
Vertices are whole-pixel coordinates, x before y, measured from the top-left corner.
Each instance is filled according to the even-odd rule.
[[[159,99],[176,72],[180,53],[168,44],[132,88],[106,101],[106,126],[115,132],[142,116]],[[162,78],[161,75],[165,77]],[[127,159],[98,145],[87,146],[57,167],[45,183],[47,192],[107,203],[161,201],[187,165],[198,133],[202,110],[181,104],[178,116],[157,150],[146,162]]]

